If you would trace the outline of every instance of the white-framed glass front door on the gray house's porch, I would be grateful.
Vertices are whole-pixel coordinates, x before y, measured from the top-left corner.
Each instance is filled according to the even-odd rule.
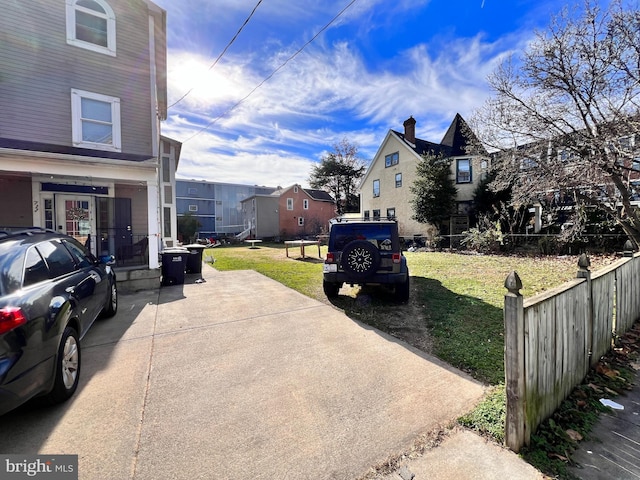
[[[56,195],[56,225],[58,232],[87,245],[91,235],[91,252],[95,254],[95,219],[93,197],[87,195]]]

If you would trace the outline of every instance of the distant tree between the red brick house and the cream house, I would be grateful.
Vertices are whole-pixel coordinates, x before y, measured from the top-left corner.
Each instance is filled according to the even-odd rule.
[[[327,189],[336,200],[337,213],[357,212],[360,202],[355,194],[366,166],[358,156],[358,147],[344,138],[333,145],[333,152],[322,157],[309,177],[313,188]]]

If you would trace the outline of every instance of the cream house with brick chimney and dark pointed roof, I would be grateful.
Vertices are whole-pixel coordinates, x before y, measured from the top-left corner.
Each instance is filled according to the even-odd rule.
[[[404,133],[389,130],[360,182],[360,212],[365,218],[395,217],[400,235],[430,236],[433,227],[413,220],[411,186],[424,154],[451,160],[451,175],[458,190],[457,214],[452,225],[467,225],[473,193],[489,167],[488,155],[469,155],[466,146],[474,134],[456,114],[440,143],[416,138],[416,120],[404,121]],[[467,227],[468,228],[468,227]],[[455,227],[453,227],[455,230]],[[455,232],[454,232],[455,233]]]

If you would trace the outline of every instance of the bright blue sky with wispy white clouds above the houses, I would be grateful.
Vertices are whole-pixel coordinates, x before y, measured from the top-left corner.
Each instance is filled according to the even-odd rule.
[[[486,78],[562,6],[557,0],[154,0],[167,11],[169,109],[180,179],[306,186],[346,138],[367,163],[412,115],[439,142],[456,113],[490,96]],[[234,107],[234,108],[232,108]],[[208,124],[213,122],[205,128]]]

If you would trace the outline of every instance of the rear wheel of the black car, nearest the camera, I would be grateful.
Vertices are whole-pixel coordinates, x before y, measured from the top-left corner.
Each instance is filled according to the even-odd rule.
[[[72,327],[66,327],[58,347],[53,389],[47,394],[49,403],[60,403],[71,397],[80,380],[80,340]]]

